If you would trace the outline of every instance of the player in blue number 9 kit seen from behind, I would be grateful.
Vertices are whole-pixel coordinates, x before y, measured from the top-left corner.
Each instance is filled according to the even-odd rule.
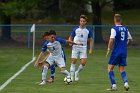
[[[116,81],[113,69],[116,65],[119,66],[119,72],[121,73],[122,80],[124,82],[124,88],[126,91],[129,89],[128,79],[124,67],[127,66],[126,57],[127,57],[127,45],[132,42],[132,37],[128,29],[122,25],[122,17],[120,14],[114,15],[115,26],[111,29],[110,40],[108,43],[107,54],[110,53],[110,50],[114,44],[110,60],[108,62],[108,74],[111,81],[111,91],[116,91]]]

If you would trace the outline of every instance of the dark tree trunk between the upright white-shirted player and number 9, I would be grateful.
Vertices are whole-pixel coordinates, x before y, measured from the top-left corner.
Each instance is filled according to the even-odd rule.
[[[93,25],[95,26],[95,43],[102,43],[102,22],[101,22],[101,7],[99,4],[99,0],[92,1],[92,10],[93,10]]]

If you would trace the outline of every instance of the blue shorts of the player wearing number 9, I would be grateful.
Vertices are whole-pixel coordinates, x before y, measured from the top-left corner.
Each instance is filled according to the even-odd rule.
[[[127,66],[126,57],[110,56],[110,60],[109,60],[108,64],[110,64],[110,65],[118,65],[118,66]]]

